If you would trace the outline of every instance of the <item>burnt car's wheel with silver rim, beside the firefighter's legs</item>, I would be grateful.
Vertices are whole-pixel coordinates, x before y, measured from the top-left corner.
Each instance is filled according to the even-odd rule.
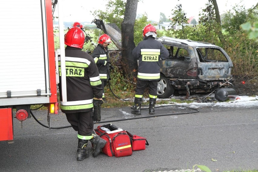
[[[158,98],[169,98],[174,91],[175,89],[170,85],[169,80],[164,76],[160,76],[157,86]]]

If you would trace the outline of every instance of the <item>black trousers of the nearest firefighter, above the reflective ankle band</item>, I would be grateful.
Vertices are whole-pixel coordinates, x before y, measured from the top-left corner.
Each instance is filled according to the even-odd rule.
[[[67,121],[71,124],[75,131],[81,136],[91,136],[94,123],[93,123],[93,111],[78,112],[65,114]]]

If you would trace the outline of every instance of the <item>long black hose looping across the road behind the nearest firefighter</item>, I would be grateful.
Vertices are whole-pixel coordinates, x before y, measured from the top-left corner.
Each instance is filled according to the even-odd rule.
[[[193,114],[193,113],[197,113],[199,112],[198,109],[196,108],[190,108],[190,107],[186,107],[186,106],[182,106],[182,105],[162,105],[162,106],[157,106],[155,108],[163,108],[163,107],[171,107],[171,106],[175,106],[175,107],[183,107],[183,108],[188,108],[188,109],[193,109],[195,111],[193,112],[184,112],[184,113],[172,113],[172,114],[160,114],[160,115],[148,115],[148,116],[144,116],[144,117],[133,117],[133,118],[127,118],[127,119],[117,119],[117,120],[110,120],[110,121],[100,121],[100,122],[94,122],[94,124],[100,124],[100,123],[110,123],[110,122],[115,122],[115,121],[127,121],[127,120],[133,120],[133,119],[141,119],[141,118],[150,118],[150,117],[160,117],[160,116],[168,116],[168,115],[180,115],[180,114]],[[141,108],[142,110],[148,109],[148,108]],[[34,116],[34,114],[31,112],[31,116],[43,127],[49,128],[48,126],[42,124],[41,122],[38,121],[38,119]],[[61,128],[68,128],[68,127],[72,127],[70,126],[64,126],[64,127],[50,127],[50,129],[61,129]]]

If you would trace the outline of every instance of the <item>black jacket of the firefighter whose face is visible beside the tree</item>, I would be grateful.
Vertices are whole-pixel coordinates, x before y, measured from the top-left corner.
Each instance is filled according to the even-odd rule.
[[[95,63],[97,64],[100,79],[107,80],[110,78],[110,61],[108,55],[108,47],[106,49],[102,47],[100,44],[92,52],[91,56],[94,58]]]

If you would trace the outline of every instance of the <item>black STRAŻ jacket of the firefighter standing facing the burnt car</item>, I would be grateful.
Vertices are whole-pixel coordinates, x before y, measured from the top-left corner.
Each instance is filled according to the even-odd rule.
[[[160,79],[160,59],[167,59],[169,52],[160,41],[148,36],[133,49],[132,55],[139,60],[137,79],[155,81]]]

